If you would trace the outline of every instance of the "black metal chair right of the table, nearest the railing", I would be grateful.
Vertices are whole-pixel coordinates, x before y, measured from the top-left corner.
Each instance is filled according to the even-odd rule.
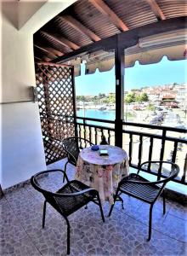
[[[164,165],[169,165],[170,170]],[[149,180],[141,177],[139,171],[142,168],[147,167],[148,170],[156,174],[157,180],[155,182],[150,182]],[[178,176],[179,167],[178,165],[169,161],[146,161],[139,166],[138,173],[131,173],[129,176],[122,178],[121,182],[118,184],[116,189],[116,195],[114,196],[114,204],[119,195],[127,194],[131,195],[141,201],[150,204],[150,220],[149,220],[149,237],[151,238],[151,224],[152,224],[152,208],[161,195],[163,196],[163,214],[166,212],[166,202],[164,195],[164,187],[167,182],[173,180],[174,177]],[[109,217],[111,216],[114,204],[111,206]]]

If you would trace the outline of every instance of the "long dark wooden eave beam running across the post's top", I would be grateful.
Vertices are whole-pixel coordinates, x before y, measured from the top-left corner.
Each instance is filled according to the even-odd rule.
[[[135,44],[138,44],[139,38],[144,38],[158,33],[163,32],[173,32],[178,29],[186,28],[186,17],[177,17],[173,19],[160,20],[154,23],[150,23],[144,26],[139,26],[133,28],[127,32],[122,32],[119,34],[120,44],[123,49],[131,47]],[[56,58],[54,63],[60,63],[64,61],[69,61],[75,57],[80,57],[82,55],[90,54],[94,51],[105,49],[111,50],[116,48],[116,35],[109,38],[104,38],[93,44],[83,46],[80,49],[74,50],[64,56]]]

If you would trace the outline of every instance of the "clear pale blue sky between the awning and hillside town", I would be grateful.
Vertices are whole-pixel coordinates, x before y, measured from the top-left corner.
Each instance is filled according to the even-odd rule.
[[[186,72],[185,72],[186,70]],[[100,73],[82,75],[76,78],[76,94],[99,95],[99,93],[115,92],[115,69]],[[144,86],[156,86],[162,84],[183,84],[187,82],[187,61],[168,61],[167,57],[156,64],[139,65],[136,61],[134,67],[125,69],[125,90],[141,88]]]

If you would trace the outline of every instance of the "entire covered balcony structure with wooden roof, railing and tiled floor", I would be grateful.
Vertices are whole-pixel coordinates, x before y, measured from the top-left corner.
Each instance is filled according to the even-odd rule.
[[[27,179],[45,169],[46,163],[50,163],[48,168],[64,168],[61,139],[67,136],[81,135],[99,143],[101,135],[105,135],[108,143],[127,151],[131,172],[136,172],[145,159],[158,157],[176,161],[181,172],[173,184],[177,189],[182,188],[178,191],[181,195],[186,184],[186,140],[176,133],[183,136],[186,130],[132,124],[121,118],[124,116],[125,68],[133,67],[137,60],[142,64],[159,61],[163,55],[170,60],[186,58],[184,4],[134,1],[139,3],[132,9],[131,0],[125,0],[125,5],[123,1],[69,0],[53,3],[53,7],[51,1],[32,1],[29,7],[25,1],[6,2],[3,1],[1,13],[3,160],[0,196],[1,188],[4,196],[0,200],[0,254],[66,254],[65,222],[48,207],[46,227],[42,229],[44,200]],[[66,9],[71,3],[74,4]],[[115,65],[115,123],[76,117],[74,76],[80,75],[82,61],[87,61],[86,73],[94,73],[97,68],[107,71]],[[33,96],[31,86],[36,84],[37,93],[33,90]],[[69,117],[59,116],[62,114],[69,114]],[[74,172],[72,166],[68,166],[70,178],[74,177]],[[144,175],[154,173],[149,171]],[[57,189],[61,180],[48,183],[43,177],[42,183],[47,188]],[[142,202],[124,196],[125,210],[116,204],[111,218],[107,218],[110,205],[106,202],[103,206],[105,224],[94,204],[80,209],[70,218],[71,255],[184,255],[187,213],[181,199],[186,200],[186,197],[175,197],[178,201],[171,201],[170,194],[167,195],[166,215],[162,215],[161,199],[154,207],[153,234],[149,242],[146,240],[147,206]]]

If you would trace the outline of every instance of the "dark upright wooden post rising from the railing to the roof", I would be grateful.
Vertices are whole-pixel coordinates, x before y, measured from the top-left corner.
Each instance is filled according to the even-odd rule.
[[[122,148],[122,120],[124,114],[124,49],[121,47],[119,35],[116,36],[115,49],[115,73],[116,73],[116,120],[115,120],[115,144]]]

